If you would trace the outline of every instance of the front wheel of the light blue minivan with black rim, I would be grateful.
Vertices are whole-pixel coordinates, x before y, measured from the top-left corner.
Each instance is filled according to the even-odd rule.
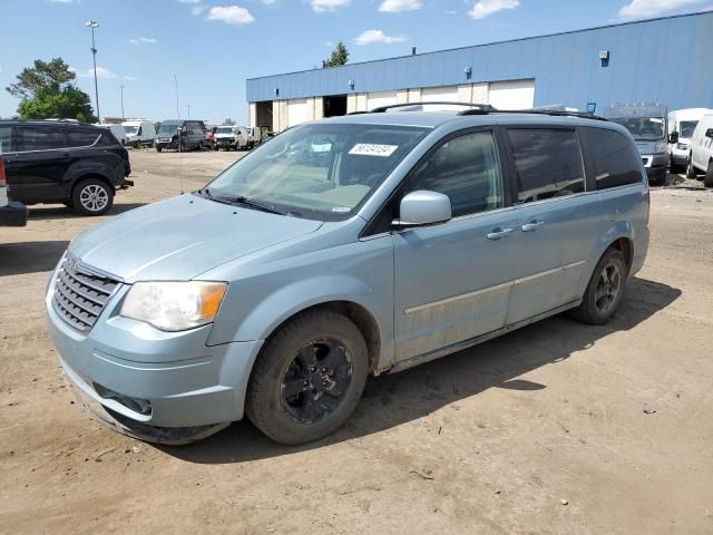
[[[361,398],[367,343],[348,318],[304,312],[266,342],[251,374],[245,411],[277,442],[299,445],[339,429]]]

